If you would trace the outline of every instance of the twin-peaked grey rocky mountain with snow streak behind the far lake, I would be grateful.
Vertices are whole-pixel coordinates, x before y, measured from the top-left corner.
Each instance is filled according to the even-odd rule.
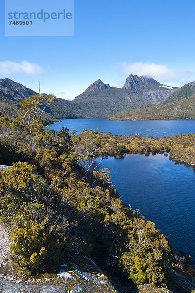
[[[122,88],[97,80],[72,101],[79,115],[110,117],[124,110],[162,104],[176,90],[153,78],[130,74]]]

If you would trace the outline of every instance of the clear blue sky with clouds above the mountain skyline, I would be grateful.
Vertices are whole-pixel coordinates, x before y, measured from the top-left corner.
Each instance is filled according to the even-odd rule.
[[[34,90],[40,80],[65,99],[99,78],[123,86],[130,73],[171,86],[195,80],[194,0],[75,0],[74,37],[5,37],[2,2],[0,78]]]

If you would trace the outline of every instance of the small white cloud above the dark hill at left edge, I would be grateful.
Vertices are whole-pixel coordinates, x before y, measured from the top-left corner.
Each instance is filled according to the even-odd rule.
[[[44,72],[43,68],[36,63],[23,60],[15,61],[0,61],[0,74],[8,77],[13,74],[39,75]]]

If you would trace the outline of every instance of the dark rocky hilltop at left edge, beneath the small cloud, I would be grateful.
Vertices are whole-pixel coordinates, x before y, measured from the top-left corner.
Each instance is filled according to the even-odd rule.
[[[26,88],[22,84],[16,83],[9,78],[0,79],[0,98],[6,98],[13,101],[22,101],[24,98],[35,95],[36,92]]]

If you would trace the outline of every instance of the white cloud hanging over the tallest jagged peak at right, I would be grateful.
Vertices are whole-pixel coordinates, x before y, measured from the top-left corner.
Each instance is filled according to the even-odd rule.
[[[174,86],[181,86],[188,82],[195,80],[195,72],[190,71],[176,71],[163,64],[148,63],[148,62],[135,62],[127,63],[122,62],[119,64],[120,71],[129,75],[146,75],[152,77],[162,84],[170,84]]]

